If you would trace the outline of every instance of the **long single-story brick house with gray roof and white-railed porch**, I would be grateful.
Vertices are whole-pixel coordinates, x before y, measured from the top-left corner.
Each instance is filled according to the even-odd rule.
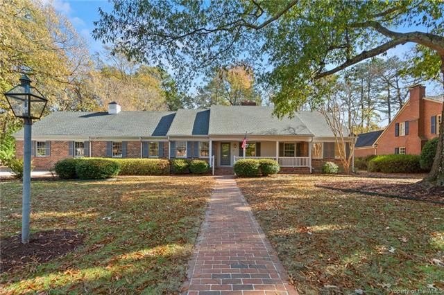
[[[285,172],[320,170],[339,161],[335,138],[323,115],[300,111],[282,120],[273,107],[212,106],[178,111],[56,111],[33,125],[32,158],[36,169],[50,169],[69,157],[207,159],[216,172],[232,172],[244,157],[269,158]],[[23,131],[15,134],[17,157]]]

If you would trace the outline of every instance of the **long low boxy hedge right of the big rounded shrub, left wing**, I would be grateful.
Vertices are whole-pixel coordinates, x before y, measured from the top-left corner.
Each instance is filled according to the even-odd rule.
[[[119,175],[168,175],[167,159],[112,159],[119,163]]]

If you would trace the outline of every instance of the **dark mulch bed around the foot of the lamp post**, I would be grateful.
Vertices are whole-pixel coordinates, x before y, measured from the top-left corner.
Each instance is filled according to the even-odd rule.
[[[22,244],[21,235],[0,242],[0,273],[23,267],[29,262],[48,262],[65,256],[83,244],[83,235],[65,229],[31,233],[29,244]]]

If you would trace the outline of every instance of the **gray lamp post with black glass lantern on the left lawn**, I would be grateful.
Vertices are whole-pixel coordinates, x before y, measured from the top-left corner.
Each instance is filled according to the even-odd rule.
[[[24,120],[23,147],[23,195],[22,195],[22,243],[29,242],[29,215],[31,211],[31,125],[38,120],[46,107],[46,98],[31,86],[27,75],[22,75],[20,84],[4,93],[17,118]]]

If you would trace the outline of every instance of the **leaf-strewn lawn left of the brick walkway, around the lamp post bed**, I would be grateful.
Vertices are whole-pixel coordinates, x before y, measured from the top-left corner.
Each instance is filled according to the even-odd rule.
[[[71,229],[83,246],[1,274],[0,293],[172,293],[185,278],[211,177],[33,181],[31,235]],[[22,186],[0,184],[1,238],[21,230]],[[3,291],[1,291],[3,289]]]

